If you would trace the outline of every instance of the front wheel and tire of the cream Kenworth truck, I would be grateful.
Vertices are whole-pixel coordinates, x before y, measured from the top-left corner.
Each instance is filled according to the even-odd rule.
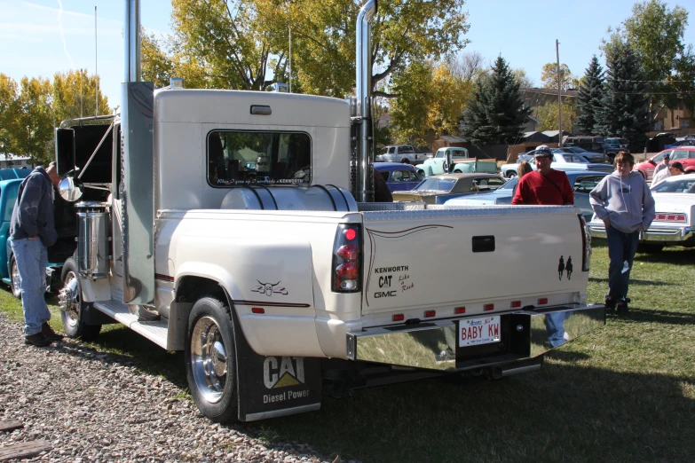
[[[67,337],[92,341],[101,333],[101,325],[84,323],[85,312],[94,309],[91,307],[91,302],[82,300],[82,286],[78,275],[75,259],[68,258],[63,265],[63,271],[60,273],[60,280],[63,282],[59,294],[60,320],[63,322],[63,330]],[[63,302],[64,299],[65,302]],[[66,304],[65,310],[63,309],[64,303]]]

